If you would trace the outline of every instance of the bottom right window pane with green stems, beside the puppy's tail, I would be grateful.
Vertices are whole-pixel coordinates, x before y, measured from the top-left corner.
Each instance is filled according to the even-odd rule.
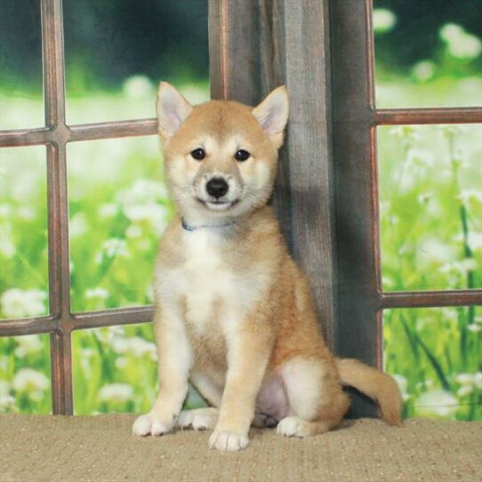
[[[482,420],[482,308],[387,309],[385,370],[406,417]]]

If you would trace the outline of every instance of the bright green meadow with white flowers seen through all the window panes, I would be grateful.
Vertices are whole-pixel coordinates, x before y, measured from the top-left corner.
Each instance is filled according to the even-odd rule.
[[[375,10],[377,39],[397,21]],[[405,71],[376,52],[379,106],[482,104],[478,36],[446,24],[437,38],[436,54]],[[82,84],[81,74],[69,75]],[[205,76],[171,80],[193,103],[208,99]],[[2,94],[2,129],[42,125],[41,96],[20,87]],[[154,79],[144,75],[116,89],[68,91],[68,122],[154,116],[155,99]],[[482,287],[482,126],[382,127],[378,155],[384,289]],[[45,149],[3,149],[0,161],[0,314],[44,315]],[[157,137],[69,144],[68,197],[73,311],[151,303],[157,243],[173,215]],[[481,307],[386,310],[385,369],[403,392],[405,415],[482,420],[481,341]],[[156,357],[149,323],[74,332],[75,413],[148,410]],[[51,402],[48,335],[0,339],[0,412],[47,414]],[[193,390],[189,406],[201,403]]]

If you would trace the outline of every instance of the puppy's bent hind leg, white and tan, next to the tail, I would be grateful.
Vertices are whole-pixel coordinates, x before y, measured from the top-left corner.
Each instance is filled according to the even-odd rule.
[[[290,415],[277,425],[285,437],[307,437],[336,427],[349,407],[330,359],[294,358],[282,371]]]

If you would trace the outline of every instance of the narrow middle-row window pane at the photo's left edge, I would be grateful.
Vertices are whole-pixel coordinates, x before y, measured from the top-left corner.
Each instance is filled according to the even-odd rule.
[[[0,317],[48,313],[45,148],[0,151]]]

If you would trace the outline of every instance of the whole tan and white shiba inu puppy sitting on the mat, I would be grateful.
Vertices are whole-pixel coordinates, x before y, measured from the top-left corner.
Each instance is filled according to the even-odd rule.
[[[307,280],[267,205],[288,118],[285,87],[255,108],[228,100],[192,107],[161,83],[157,117],[178,214],[155,269],[159,394],[133,433],[213,429],[209,446],[220,450],[247,446],[252,424],[315,435],[346,414],[343,385],[400,424],[393,379],[326,347]],[[189,381],[209,408],[181,411]]]

